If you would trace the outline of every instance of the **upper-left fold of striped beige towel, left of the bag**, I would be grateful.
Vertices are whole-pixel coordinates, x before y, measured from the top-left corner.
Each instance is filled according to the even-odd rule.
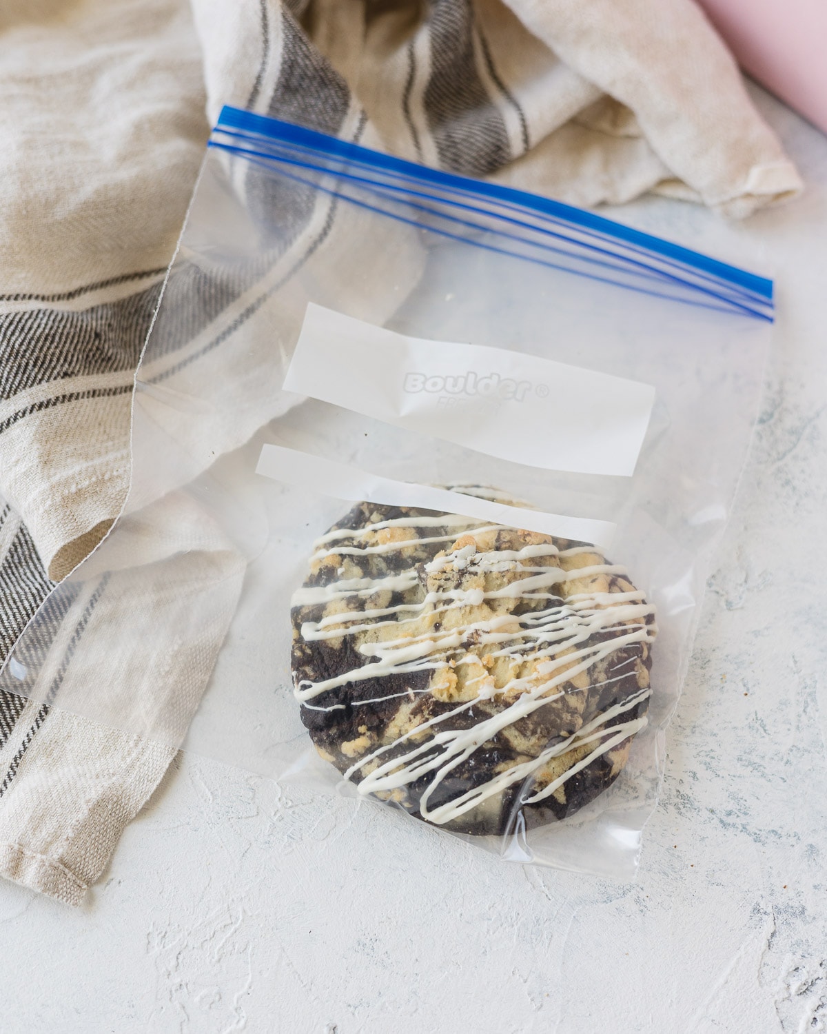
[[[132,374],[207,139],[203,109],[183,3],[0,10],[0,492],[53,578],[128,486]]]

